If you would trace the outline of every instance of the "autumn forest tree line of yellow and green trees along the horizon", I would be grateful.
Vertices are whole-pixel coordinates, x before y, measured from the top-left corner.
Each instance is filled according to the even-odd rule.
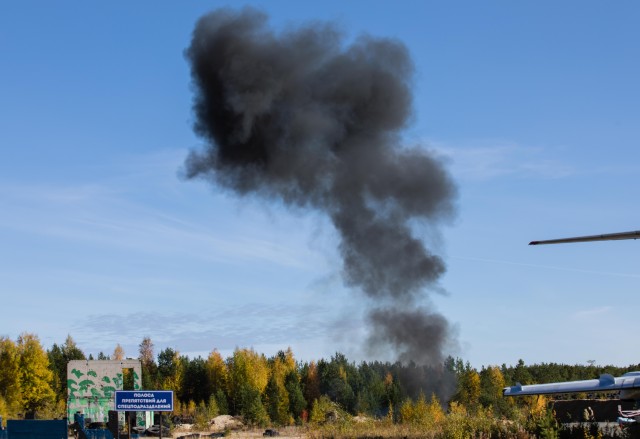
[[[64,417],[68,361],[125,357],[120,345],[109,355],[86,356],[71,336],[48,350],[34,334],[23,333],[15,341],[0,337],[0,415],[5,420]],[[237,348],[227,358],[217,350],[206,358],[189,358],[172,348],[156,354],[148,337],[128,357],[141,361],[143,389],[174,391],[175,415],[208,420],[230,414],[255,425],[322,421],[327,407],[393,422],[409,422],[421,410],[436,406],[445,412],[453,407],[511,419],[533,402],[503,398],[505,386],[592,379],[601,373],[620,376],[640,369],[640,365],[525,365],[519,360],[515,366],[478,370],[452,357],[436,367],[379,361],[356,364],[340,353],[300,362],[291,349],[272,357]]]

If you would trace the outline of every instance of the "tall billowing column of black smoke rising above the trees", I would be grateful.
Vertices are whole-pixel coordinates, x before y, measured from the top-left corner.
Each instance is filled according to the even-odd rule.
[[[206,142],[188,177],[326,213],[345,282],[375,304],[369,342],[441,364],[449,323],[417,305],[445,266],[412,226],[449,218],[456,190],[436,159],[401,145],[413,111],[406,47],[369,36],[345,46],[330,24],[277,34],[256,10],[224,9],[199,20],[186,56]]]

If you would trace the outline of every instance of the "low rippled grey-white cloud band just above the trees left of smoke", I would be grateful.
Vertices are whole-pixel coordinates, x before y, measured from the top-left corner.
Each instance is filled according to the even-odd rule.
[[[333,317],[327,306],[250,303],[199,312],[91,314],[71,328],[83,349],[97,353],[122,344],[130,356],[144,336],[181,352],[230,350],[326,338]]]

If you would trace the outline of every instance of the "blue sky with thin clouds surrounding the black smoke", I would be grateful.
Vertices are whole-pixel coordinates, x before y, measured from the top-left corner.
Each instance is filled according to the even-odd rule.
[[[326,218],[179,176],[201,145],[183,51],[202,14],[245,4],[275,29],[329,20],[407,45],[404,139],[459,188],[456,218],[424,237],[448,266],[428,300],[454,355],[640,361],[640,243],[526,245],[640,229],[631,1],[0,3],[0,335],[368,358]]]

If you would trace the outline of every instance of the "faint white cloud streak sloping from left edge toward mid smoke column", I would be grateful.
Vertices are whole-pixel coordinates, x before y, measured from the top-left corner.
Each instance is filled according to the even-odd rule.
[[[4,182],[0,185],[0,233],[13,230],[147,254],[188,253],[214,262],[260,260],[296,268],[317,262],[306,247],[263,238],[259,229],[250,226],[263,218],[238,215],[232,221],[227,215],[225,224],[219,223],[219,217],[212,218],[216,203],[218,209],[233,211],[234,202],[178,180],[176,154],[136,160],[146,163],[146,168],[126,162],[114,171],[118,177],[103,181]],[[158,180],[166,180],[165,187],[173,188],[168,202],[144,194],[162,188],[163,184],[155,186]],[[196,200],[197,196],[205,200]],[[197,208],[199,218],[191,214]]]

